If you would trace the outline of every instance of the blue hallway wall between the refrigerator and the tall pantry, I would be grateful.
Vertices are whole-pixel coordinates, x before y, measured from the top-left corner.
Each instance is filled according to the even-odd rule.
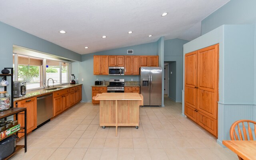
[[[171,93],[174,90],[170,89],[169,97],[172,98],[176,102],[182,102],[182,79],[183,79],[183,44],[188,43],[187,40],[181,40],[181,39],[172,39],[172,40],[165,40],[164,41],[164,62],[176,62],[176,72],[175,72],[175,78],[176,80],[170,80],[169,79],[169,89],[170,86],[172,88],[175,86],[175,94]],[[169,66],[170,68],[170,66]],[[174,77],[174,71],[173,74],[170,74],[169,70],[169,76],[172,78]],[[175,82],[175,84],[171,84]]]

